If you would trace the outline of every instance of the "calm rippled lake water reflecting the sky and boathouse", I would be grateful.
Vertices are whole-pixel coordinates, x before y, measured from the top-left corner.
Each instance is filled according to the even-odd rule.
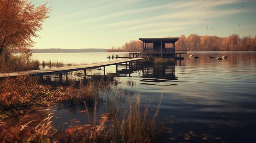
[[[108,61],[108,55],[128,54],[40,53],[33,54],[33,58],[89,64]],[[181,63],[178,61],[176,66],[141,67],[132,72],[130,77],[119,77],[123,81],[119,88],[132,92],[132,97],[140,93],[143,104],[144,101],[152,100],[151,115],[155,113],[159,101],[162,101],[157,120],[172,128],[173,132],[166,134],[161,142],[255,143],[256,52],[193,52],[198,59],[188,55]],[[228,58],[220,61],[216,59],[223,55],[228,55]],[[209,56],[215,58],[209,59]],[[108,72],[115,73],[115,67],[108,68]],[[134,81],[132,87],[125,84],[130,80]],[[128,109],[130,98],[124,97],[122,110]],[[106,106],[99,106],[98,111],[105,112]],[[79,109],[63,108],[54,114],[57,125],[70,123],[72,119],[79,120],[78,124],[85,123],[85,114],[79,113]],[[169,138],[173,136],[177,137],[171,141]]]

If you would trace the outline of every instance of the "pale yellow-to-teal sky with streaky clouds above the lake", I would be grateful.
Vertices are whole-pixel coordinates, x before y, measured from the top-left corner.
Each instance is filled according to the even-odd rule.
[[[33,48],[111,48],[139,38],[191,33],[256,34],[256,0],[30,1],[36,7],[48,2],[52,9]]]

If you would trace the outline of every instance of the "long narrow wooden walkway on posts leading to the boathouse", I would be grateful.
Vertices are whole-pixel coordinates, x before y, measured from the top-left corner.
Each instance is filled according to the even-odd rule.
[[[39,69],[39,70],[28,70],[28,71],[22,71],[22,72],[15,72],[15,73],[0,73],[0,78],[6,78],[6,77],[16,77],[18,75],[31,75],[31,76],[44,76],[44,75],[53,75],[53,74],[59,74],[60,77],[62,77],[62,73],[77,71],[77,70],[84,70],[84,73],[86,75],[86,69],[92,69],[92,68],[104,68],[104,75],[105,75],[105,66],[111,66],[111,65],[117,65],[128,63],[130,65],[131,62],[138,62],[141,59],[146,58],[132,58],[132,59],[121,59],[121,60],[115,60],[115,61],[109,61],[109,62],[100,62],[100,63],[94,63],[94,64],[85,64],[85,65],[79,65],[79,66],[67,66],[67,67],[61,67],[61,68],[47,68],[47,69]]]

